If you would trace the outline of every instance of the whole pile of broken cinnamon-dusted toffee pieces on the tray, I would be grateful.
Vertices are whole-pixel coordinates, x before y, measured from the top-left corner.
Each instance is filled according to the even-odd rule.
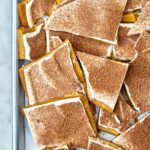
[[[150,1],[23,0],[18,13],[37,147],[149,150]]]

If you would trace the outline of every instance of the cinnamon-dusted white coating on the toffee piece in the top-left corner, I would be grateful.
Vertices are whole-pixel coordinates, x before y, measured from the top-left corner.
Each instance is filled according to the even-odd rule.
[[[29,0],[26,3],[26,17],[29,27],[43,17],[53,6],[55,0]]]

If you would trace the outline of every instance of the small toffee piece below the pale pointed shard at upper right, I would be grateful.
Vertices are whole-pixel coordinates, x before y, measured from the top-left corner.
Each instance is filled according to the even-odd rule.
[[[114,46],[114,57],[123,61],[129,61],[137,56],[137,52],[134,49],[135,40],[132,36],[128,36],[128,31],[131,26],[127,24],[121,24],[118,31],[118,45]]]

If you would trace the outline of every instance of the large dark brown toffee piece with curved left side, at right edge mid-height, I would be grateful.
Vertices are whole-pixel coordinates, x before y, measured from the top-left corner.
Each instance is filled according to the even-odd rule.
[[[125,87],[136,110],[150,110],[150,50],[142,52],[130,63]]]

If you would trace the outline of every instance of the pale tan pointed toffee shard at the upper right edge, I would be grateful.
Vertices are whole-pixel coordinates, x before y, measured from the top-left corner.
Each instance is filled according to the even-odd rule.
[[[143,31],[150,31],[150,1],[146,3],[144,10],[135,22],[135,26],[130,29],[128,35],[141,34]]]

